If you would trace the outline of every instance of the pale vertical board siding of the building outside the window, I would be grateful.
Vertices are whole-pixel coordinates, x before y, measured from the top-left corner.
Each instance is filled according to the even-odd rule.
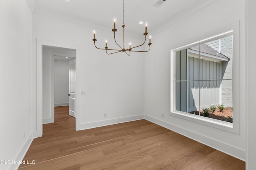
[[[198,58],[187,57],[186,49],[176,52],[176,110],[199,111],[220,104],[221,64]]]

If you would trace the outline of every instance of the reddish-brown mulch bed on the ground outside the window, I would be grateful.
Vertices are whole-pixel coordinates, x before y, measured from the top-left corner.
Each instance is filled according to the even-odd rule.
[[[200,115],[202,115],[202,111],[200,112]],[[192,111],[190,113],[198,115],[198,111]],[[231,109],[231,107],[225,107],[225,109],[222,112],[220,112],[220,109],[217,107],[216,110],[214,111],[214,114],[210,114],[209,117],[212,119],[233,122],[233,110]]]

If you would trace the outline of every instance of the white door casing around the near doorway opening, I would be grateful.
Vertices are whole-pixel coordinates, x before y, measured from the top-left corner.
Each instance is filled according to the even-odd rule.
[[[36,117],[34,121],[36,121],[36,129],[34,131],[34,138],[42,137],[43,135],[43,124],[42,124],[42,47],[43,46],[52,46],[52,47],[61,47],[66,49],[74,49],[76,50],[76,59],[78,59],[80,54],[79,45],[70,44],[65,42],[58,42],[58,41],[50,41],[45,39],[36,39]],[[76,75],[77,75],[77,66],[76,66]],[[77,82],[76,77],[76,82]],[[76,94],[78,91],[78,83],[76,83]],[[76,97],[76,131],[79,130],[79,110],[77,107],[79,104],[79,96]]]

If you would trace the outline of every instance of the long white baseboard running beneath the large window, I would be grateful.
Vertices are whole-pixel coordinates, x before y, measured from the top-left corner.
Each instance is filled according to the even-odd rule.
[[[144,119],[146,119],[148,121],[151,121],[152,123],[155,123],[155,124],[160,125],[162,127],[165,127],[167,129],[170,129],[171,131],[179,133],[179,134],[181,134],[183,136],[186,136],[190,139],[198,141],[198,142],[200,142],[204,145],[212,147],[216,150],[220,150],[221,152],[224,152],[226,154],[234,156],[235,158],[238,158],[238,159],[243,160],[243,161],[246,160],[246,158],[245,158],[246,151],[245,150],[233,147],[231,145],[228,145],[226,143],[222,143],[220,141],[214,140],[214,139],[209,138],[209,137],[205,137],[205,136],[200,135],[198,133],[192,132],[188,129],[178,127],[176,125],[173,125],[173,124],[168,123],[166,121],[162,121],[160,119],[157,119],[157,118],[149,116],[149,115],[144,115]]]

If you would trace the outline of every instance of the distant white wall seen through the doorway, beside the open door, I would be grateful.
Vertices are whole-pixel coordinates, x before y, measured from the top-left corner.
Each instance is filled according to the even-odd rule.
[[[68,105],[69,61],[54,59],[54,106]]]

